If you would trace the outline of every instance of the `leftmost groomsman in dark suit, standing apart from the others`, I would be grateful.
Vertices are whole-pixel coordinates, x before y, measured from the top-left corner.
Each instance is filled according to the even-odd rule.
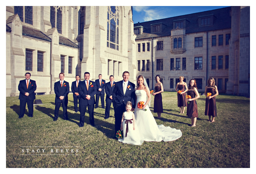
[[[19,99],[20,99],[20,116],[21,119],[25,114],[26,104],[28,107],[28,116],[33,117],[33,103],[36,99],[35,91],[36,91],[36,81],[30,79],[31,74],[26,73],[24,80],[20,80],[18,85],[18,90],[20,91]]]

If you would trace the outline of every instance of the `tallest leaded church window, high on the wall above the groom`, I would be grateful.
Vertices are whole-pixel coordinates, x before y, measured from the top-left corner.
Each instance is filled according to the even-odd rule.
[[[109,6],[107,16],[107,47],[119,50],[119,7]]]

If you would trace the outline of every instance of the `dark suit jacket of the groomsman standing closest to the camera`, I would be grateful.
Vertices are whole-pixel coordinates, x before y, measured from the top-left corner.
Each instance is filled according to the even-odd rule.
[[[96,94],[97,86],[95,82],[89,80],[89,87],[87,90],[85,82],[86,80],[84,80],[83,82],[80,82],[80,84],[78,85],[78,93],[80,95],[79,105],[93,105],[94,95]],[[87,100],[86,95],[90,95],[91,99]]]

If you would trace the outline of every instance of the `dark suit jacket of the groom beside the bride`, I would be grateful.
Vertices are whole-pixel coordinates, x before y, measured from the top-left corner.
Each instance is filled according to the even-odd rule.
[[[130,87],[129,87],[130,85]],[[135,84],[128,81],[127,88],[125,95],[123,94],[123,80],[116,82],[116,85],[114,85],[114,90],[112,92],[112,98],[115,103],[115,106],[118,107],[122,103],[126,104],[127,101],[132,102],[133,108],[135,108]]]

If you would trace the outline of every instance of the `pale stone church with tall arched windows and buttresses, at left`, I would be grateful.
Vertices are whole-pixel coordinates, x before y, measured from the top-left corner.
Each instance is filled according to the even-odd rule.
[[[70,83],[84,72],[136,79],[131,6],[6,6],[6,96],[18,96],[25,73],[36,94],[54,94],[64,72]],[[71,91],[71,89],[70,89]]]

